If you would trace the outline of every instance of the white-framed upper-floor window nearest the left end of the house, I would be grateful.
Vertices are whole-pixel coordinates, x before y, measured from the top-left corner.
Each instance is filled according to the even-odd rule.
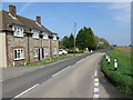
[[[23,28],[22,27],[18,27],[18,26],[13,26],[13,36],[14,37],[23,37]]]

